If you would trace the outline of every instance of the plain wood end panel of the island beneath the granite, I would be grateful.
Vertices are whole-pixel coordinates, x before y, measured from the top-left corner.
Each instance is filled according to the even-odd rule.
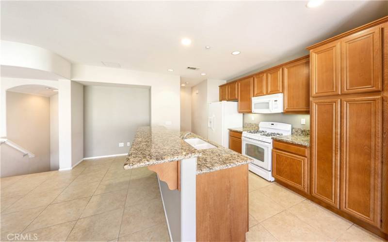
[[[197,241],[245,241],[248,219],[248,165],[197,175]]]

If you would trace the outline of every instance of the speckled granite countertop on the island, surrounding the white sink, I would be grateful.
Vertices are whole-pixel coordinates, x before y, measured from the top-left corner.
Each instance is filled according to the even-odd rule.
[[[180,138],[183,133],[186,132],[174,132],[162,126],[138,128],[124,169],[197,157],[198,175],[252,162],[240,153],[191,133],[186,138],[201,138],[216,146],[207,150],[196,150]]]

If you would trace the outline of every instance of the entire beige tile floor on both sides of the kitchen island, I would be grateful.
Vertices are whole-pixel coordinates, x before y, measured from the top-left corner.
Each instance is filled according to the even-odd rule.
[[[169,241],[155,173],[123,170],[123,163],[104,158],[70,171],[2,178],[1,241],[15,234],[33,241]],[[249,193],[247,241],[383,241],[253,173]]]

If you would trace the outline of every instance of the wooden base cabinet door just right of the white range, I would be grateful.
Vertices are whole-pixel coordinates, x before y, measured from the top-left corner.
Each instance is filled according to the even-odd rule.
[[[273,176],[276,180],[307,193],[307,158],[272,150]]]

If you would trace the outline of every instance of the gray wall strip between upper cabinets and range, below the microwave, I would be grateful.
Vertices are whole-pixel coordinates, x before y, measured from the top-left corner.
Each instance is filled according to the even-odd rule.
[[[292,125],[292,128],[310,129],[309,114],[285,114],[285,113],[244,113],[244,123],[259,123],[261,121],[283,122]],[[306,119],[306,125],[301,124],[301,119]]]

